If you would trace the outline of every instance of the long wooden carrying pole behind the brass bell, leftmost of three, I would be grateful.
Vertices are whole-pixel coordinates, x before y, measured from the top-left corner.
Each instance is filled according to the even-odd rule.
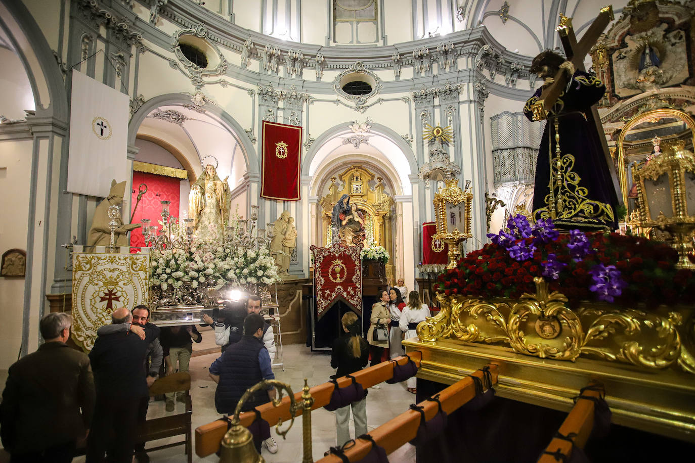
[[[422,360],[422,354],[419,351],[414,351],[404,355],[402,357],[396,357],[394,360],[398,364],[406,364],[408,362],[408,357],[413,360],[418,368],[420,367],[420,360]],[[366,369],[357,371],[353,373],[355,380],[359,382],[362,387],[367,389],[373,385],[379,384],[379,382],[384,382],[393,378],[393,364],[391,362],[382,362],[380,364],[374,365],[373,367],[368,367]],[[350,378],[338,378],[338,387],[345,387],[352,384]],[[311,410],[316,410],[317,408],[324,407],[328,405],[331,401],[331,396],[333,394],[334,385],[332,382],[324,382],[318,386],[314,386],[309,389],[309,393],[313,397],[313,406]],[[295,392],[295,400],[301,401],[302,391]],[[261,416],[265,421],[268,421],[270,426],[275,426],[275,424],[282,419],[282,421],[288,421],[290,416],[290,398],[284,397],[281,404],[278,407],[274,407],[272,403],[266,403],[260,407],[256,407]],[[302,414],[302,409],[298,410],[297,415]],[[256,419],[256,414],[254,412],[244,412],[240,414],[240,421],[242,426],[249,426]],[[212,455],[218,448],[220,448],[220,441],[222,437],[227,433],[227,422],[222,420],[216,420],[212,423],[204,424],[195,428],[195,454],[199,457],[206,457],[207,455]]]

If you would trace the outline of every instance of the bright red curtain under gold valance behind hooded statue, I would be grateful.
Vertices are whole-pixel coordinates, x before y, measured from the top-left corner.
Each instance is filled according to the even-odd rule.
[[[179,217],[179,198],[181,197],[181,180],[157,174],[145,172],[133,172],[133,190],[131,208],[135,208],[138,201],[138,187],[141,183],[147,185],[147,193],[142,195],[140,204],[133,216],[133,224],[139,224],[142,219],[150,219],[150,225],[155,225],[161,230],[159,221],[162,219],[162,204],[160,201],[171,201],[169,213],[172,217]],[[133,210],[131,209],[131,214]],[[131,233],[131,246],[145,246],[142,238],[142,229],[136,228]]]

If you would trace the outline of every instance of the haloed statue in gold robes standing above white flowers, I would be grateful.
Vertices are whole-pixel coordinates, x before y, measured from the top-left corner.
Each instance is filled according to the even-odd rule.
[[[193,244],[224,239],[224,221],[229,220],[231,207],[227,178],[220,180],[215,166],[208,164],[190,188],[188,214],[194,219]]]

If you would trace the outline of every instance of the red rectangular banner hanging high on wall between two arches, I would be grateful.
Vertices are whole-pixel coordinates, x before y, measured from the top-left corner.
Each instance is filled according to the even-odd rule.
[[[261,197],[300,200],[302,128],[263,121]]]

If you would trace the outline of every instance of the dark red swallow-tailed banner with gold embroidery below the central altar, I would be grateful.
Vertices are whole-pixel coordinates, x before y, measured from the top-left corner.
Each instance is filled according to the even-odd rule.
[[[327,248],[311,246],[316,317],[320,319],[333,303],[341,301],[362,316],[362,245],[334,243]]]

